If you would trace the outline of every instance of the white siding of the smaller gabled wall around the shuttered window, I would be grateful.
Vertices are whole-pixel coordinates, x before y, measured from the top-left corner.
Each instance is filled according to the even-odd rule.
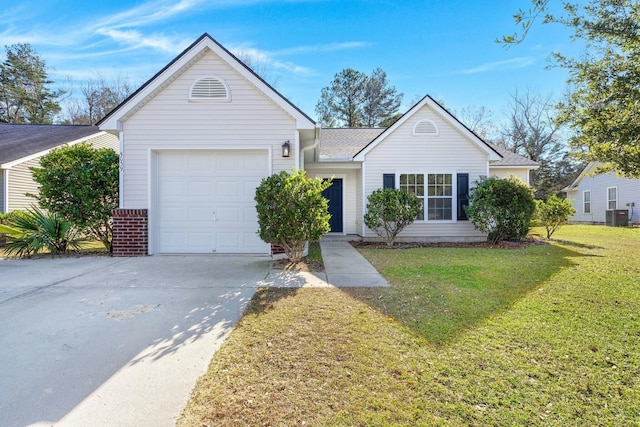
[[[420,120],[431,120],[439,130],[438,136],[414,136],[413,127]],[[469,174],[469,186],[487,174],[487,154],[466,139],[430,108],[424,107],[401,127],[388,135],[365,160],[365,198],[382,187],[383,174],[451,173],[454,178],[454,213],[452,221],[414,222],[400,235],[409,240],[483,240],[486,236],[473,228],[470,221],[456,221],[455,176]],[[363,207],[366,209],[366,207]],[[376,237],[371,230],[366,237]]]

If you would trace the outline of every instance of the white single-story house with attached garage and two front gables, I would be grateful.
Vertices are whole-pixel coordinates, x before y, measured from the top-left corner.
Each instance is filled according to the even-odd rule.
[[[528,182],[537,164],[482,141],[425,97],[388,129],[321,129],[204,34],[99,124],[121,141],[114,253],[269,253],[255,188],[302,168],[334,178],[331,231],[374,238],[362,221],[377,188],[416,192],[401,238],[481,240],[462,206],[481,176]],[[285,150],[286,147],[286,150]]]

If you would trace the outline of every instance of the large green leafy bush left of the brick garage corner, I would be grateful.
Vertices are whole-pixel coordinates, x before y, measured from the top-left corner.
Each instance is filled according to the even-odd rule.
[[[118,207],[118,154],[82,143],[63,146],[40,158],[32,168],[40,185],[34,197],[41,207],[60,214],[112,251],[113,209]]]

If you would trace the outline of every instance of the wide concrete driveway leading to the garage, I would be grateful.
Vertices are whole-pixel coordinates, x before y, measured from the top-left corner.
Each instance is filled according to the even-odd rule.
[[[0,259],[0,425],[169,426],[268,257]]]

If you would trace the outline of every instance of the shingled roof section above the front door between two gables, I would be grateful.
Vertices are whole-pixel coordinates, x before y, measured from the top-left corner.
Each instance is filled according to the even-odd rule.
[[[322,128],[319,159],[349,161],[384,132],[384,128]]]

